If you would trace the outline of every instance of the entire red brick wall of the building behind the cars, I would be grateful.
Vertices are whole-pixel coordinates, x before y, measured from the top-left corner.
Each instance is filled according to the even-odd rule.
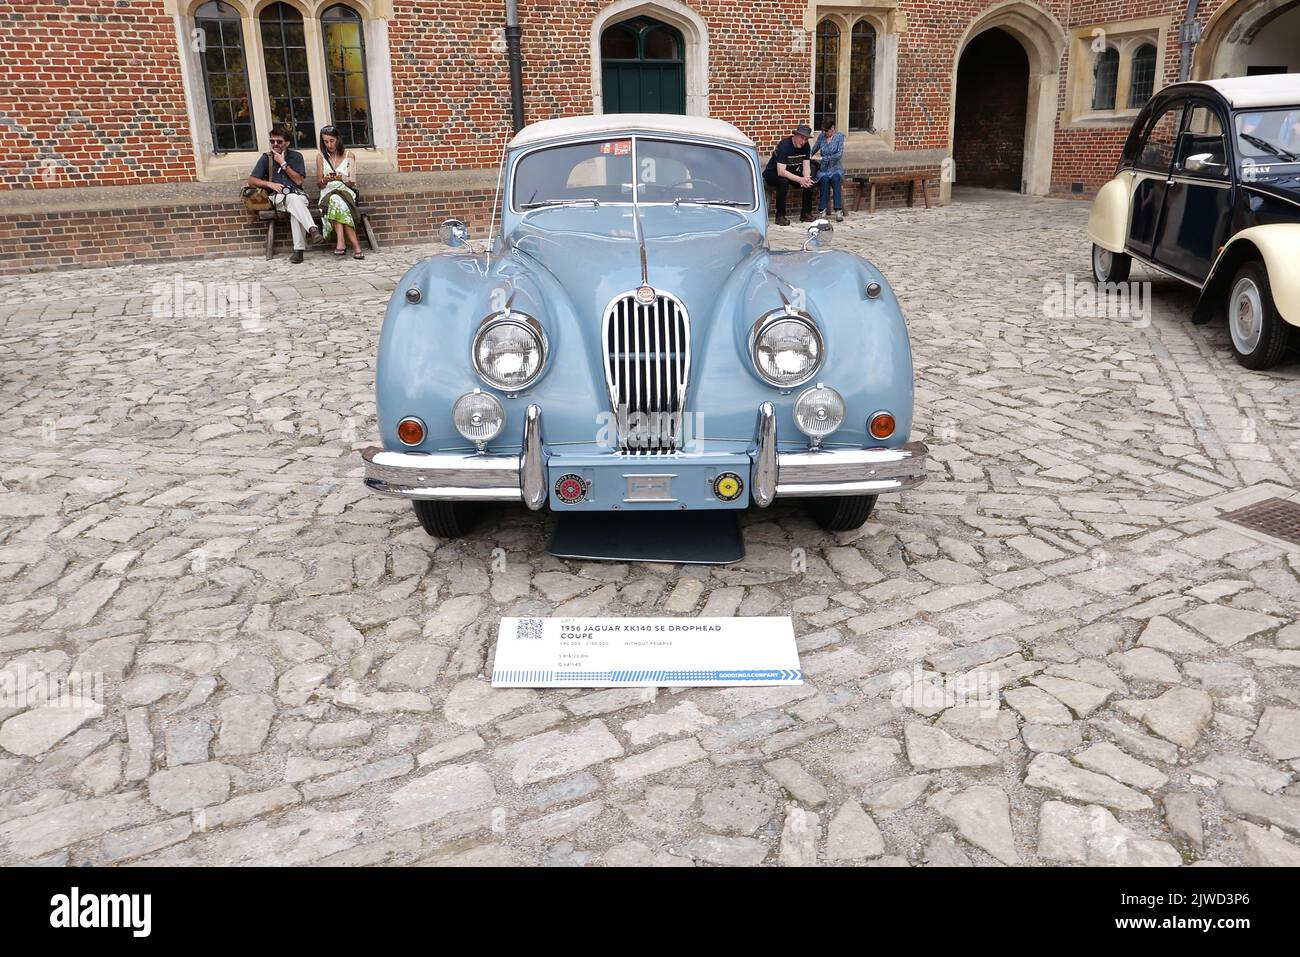
[[[708,27],[711,113],[734,122],[766,152],[807,114],[812,44],[798,33],[805,0],[688,1]],[[1205,0],[1199,22],[1204,26],[1228,1]],[[590,25],[606,5],[607,0],[520,1],[529,120],[592,109]],[[994,0],[902,0],[907,27],[900,38],[897,150],[948,148],[958,44],[970,25],[996,5]],[[1046,0],[1039,8],[1066,31],[1170,17],[1164,75],[1170,82],[1178,75],[1184,5],[1186,0]],[[400,169],[495,164],[510,113],[502,18],[499,0],[394,0],[389,39]],[[1062,57],[1062,99],[1067,62]],[[0,0],[0,189],[192,179],[176,29],[162,0]],[[1053,189],[1069,191],[1071,183],[1082,183],[1091,192],[1105,182],[1126,133],[1058,127]],[[441,204],[438,211],[403,220],[402,202],[394,199],[393,212],[382,213],[391,216],[389,231],[426,235],[429,221],[459,199],[428,202]],[[164,222],[156,234],[144,225],[150,215]],[[242,237],[237,246],[257,248],[256,229],[248,228],[238,207],[204,211],[209,215],[214,226],[235,224]],[[181,216],[166,209],[131,212],[121,217],[121,226],[96,222],[95,234],[84,238],[66,231],[72,215],[66,221],[57,215],[3,217],[0,241],[6,248],[0,256],[9,248],[21,254],[0,268],[30,263],[40,251],[56,261],[114,256],[113,235],[130,251],[122,256],[229,250],[224,242],[182,235]],[[32,225],[20,229],[18,222]]]

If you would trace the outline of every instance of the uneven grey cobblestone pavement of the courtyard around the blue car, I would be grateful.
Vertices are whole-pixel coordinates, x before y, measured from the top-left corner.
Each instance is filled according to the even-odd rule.
[[[931,481],[852,534],[751,515],[728,568],[559,562],[521,510],[439,544],[361,489],[428,250],[0,281],[0,861],[1300,863],[1300,550],[1218,519],[1297,497],[1300,361],[1143,270],[1149,324],[1045,315],[1087,212],[846,222]],[[810,680],[491,690],[521,612],[790,615]],[[103,709],[31,706],[70,672]]]

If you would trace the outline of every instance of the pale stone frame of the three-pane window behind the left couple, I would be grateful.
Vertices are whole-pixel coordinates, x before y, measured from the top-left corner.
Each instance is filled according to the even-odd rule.
[[[239,181],[248,176],[257,157],[268,148],[270,135],[270,96],[266,88],[266,64],[261,48],[261,12],[276,0],[225,0],[239,13],[243,29],[248,92],[252,101],[254,129],[257,148],[237,152],[217,152],[212,142],[212,124],[208,116],[207,88],[203,62],[194,42],[194,14],[205,0],[164,0],[166,12],[176,25],[181,73],[185,82],[186,109],[190,118],[190,138],[194,146],[195,179],[199,182]],[[332,122],[333,108],[329,96],[325,64],[325,35],[320,16],[342,3],[361,17],[365,42],[367,91],[370,99],[370,124],[374,146],[351,146],[363,156],[363,165],[372,172],[396,172],[396,121],[393,96],[393,68],[389,56],[389,20],[393,0],[281,0],[303,14],[307,40],[308,73],[311,77],[312,113],[317,127]],[[299,147],[308,173],[315,169],[315,144]]]

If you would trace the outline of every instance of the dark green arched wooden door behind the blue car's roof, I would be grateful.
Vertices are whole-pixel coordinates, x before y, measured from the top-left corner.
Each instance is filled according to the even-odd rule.
[[[601,34],[601,92],[606,113],[685,113],[686,62],[681,33],[649,17]]]

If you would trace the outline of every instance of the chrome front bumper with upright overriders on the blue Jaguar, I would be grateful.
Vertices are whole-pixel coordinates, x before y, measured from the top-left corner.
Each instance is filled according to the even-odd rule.
[[[800,452],[776,450],[776,412],[764,402],[751,462],[750,495],[766,507],[777,498],[823,495],[876,495],[901,492],[926,481],[928,449],[909,442],[901,449],[819,449]],[[671,456],[654,456],[668,464]],[[523,502],[533,510],[546,505],[546,454],[542,449],[542,410],[524,413],[523,451],[390,452],[370,446],[361,451],[365,485],[372,492],[400,498],[442,502]]]

